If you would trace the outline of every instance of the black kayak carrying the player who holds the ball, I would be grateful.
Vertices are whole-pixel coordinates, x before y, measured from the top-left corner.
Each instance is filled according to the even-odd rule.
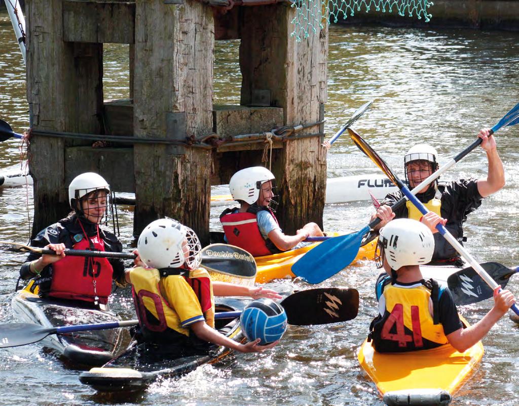
[[[218,298],[216,312],[241,311],[247,301],[233,298]],[[239,318],[216,320],[216,329],[226,337],[242,341],[243,335]],[[135,392],[145,389],[159,376],[174,378],[195,370],[202,364],[212,364],[230,355],[233,351],[226,347],[211,345],[204,350],[187,349],[168,345],[167,352],[154,344],[133,341],[120,356],[101,368],[92,368],[79,375],[81,383],[92,386],[99,392]]]

